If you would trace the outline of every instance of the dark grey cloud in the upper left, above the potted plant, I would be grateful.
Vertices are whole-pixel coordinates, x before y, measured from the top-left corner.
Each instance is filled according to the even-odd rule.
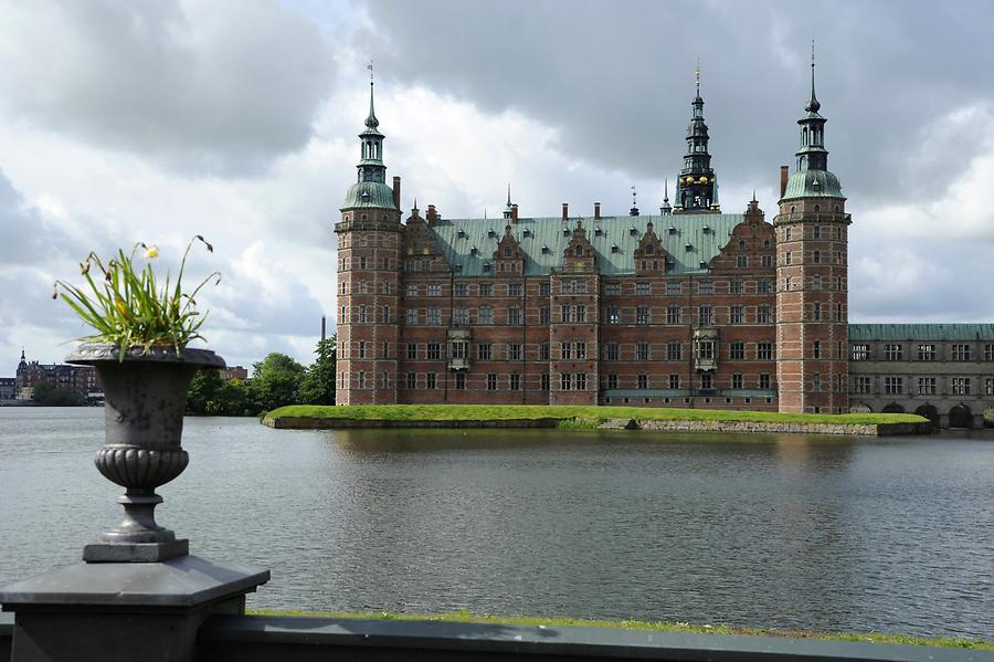
[[[298,149],[332,83],[317,27],[276,2],[67,0],[6,13],[9,112],[186,175],[253,174]]]

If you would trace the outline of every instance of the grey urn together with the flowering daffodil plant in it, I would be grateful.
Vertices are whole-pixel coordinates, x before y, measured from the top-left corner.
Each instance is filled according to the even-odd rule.
[[[106,264],[91,253],[81,265],[83,287],[55,283],[53,298],[61,296],[94,329],[80,338],[84,344],[66,360],[96,368],[106,399],[106,437],[95,463],[105,477],[125,487],[118,497],[124,521],[84,548],[85,561],[149,563],[188,554],[188,540],[156,524],[155,507],[162,503],[156,487],[177,477],[189,461],[182,448],[187,388],[197,370],[224,367],[213,351],[187,347],[202,339],[205,315],[197,309],[197,294],[209,282],[220,282],[215,272],[191,293],[182,291],[194,242],[213,252],[202,237],[194,237],[176,282],[167,274],[161,288],[151,266],[158,249],[144,243],[130,254],[118,251]],[[135,264],[139,250],[147,261],[144,269]],[[102,280],[94,279],[95,271]]]

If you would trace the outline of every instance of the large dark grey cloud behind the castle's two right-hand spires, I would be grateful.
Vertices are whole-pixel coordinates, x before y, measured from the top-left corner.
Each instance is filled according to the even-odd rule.
[[[680,167],[698,56],[715,167],[743,188],[793,162],[812,38],[832,168],[864,203],[948,183],[954,170],[906,172],[907,155],[944,113],[994,98],[994,6],[980,1],[372,0],[369,13],[356,48],[388,38],[387,75],[520,109],[559,127],[568,154],[636,177]]]

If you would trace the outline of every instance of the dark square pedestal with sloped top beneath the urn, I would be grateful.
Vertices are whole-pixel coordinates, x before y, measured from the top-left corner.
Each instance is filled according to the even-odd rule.
[[[12,662],[192,662],[197,631],[241,614],[263,568],[197,556],[162,563],[78,564],[0,589],[15,626]]]

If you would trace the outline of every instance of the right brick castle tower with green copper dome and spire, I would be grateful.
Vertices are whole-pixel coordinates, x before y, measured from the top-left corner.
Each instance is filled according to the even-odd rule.
[[[848,408],[848,225],[846,199],[828,171],[825,122],[815,97],[797,120],[796,171],[782,183],[776,232],[776,377],[780,411]]]

